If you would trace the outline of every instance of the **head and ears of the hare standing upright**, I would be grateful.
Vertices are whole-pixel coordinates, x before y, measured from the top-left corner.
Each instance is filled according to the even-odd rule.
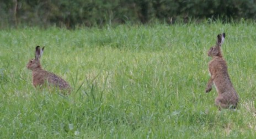
[[[209,51],[208,51],[208,56],[209,57],[213,57],[213,56],[222,56],[221,54],[221,45],[225,40],[225,33],[223,34],[219,34],[217,36],[217,42],[216,42],[216,46],[212,46]]]

